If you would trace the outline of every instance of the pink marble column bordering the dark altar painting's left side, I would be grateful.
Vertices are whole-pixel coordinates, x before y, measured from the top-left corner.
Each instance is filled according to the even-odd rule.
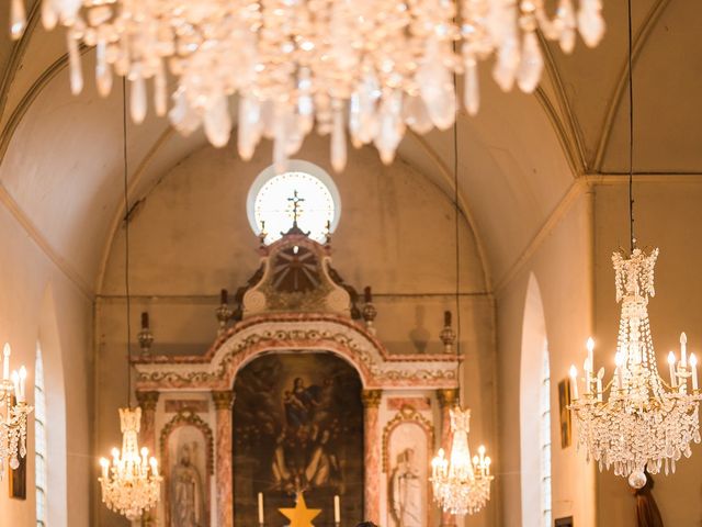
[[[213,391],[216,426],[216,485],[217,485],[217,526],[234,526],[234,493],[231,473],[231,390]]]

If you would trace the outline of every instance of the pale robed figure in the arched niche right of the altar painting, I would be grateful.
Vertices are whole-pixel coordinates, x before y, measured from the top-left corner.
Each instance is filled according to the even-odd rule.
[[[393,513],[398,527],[421,527],[421,480],[415,466],[415,450],[404,450],[390,480]]]

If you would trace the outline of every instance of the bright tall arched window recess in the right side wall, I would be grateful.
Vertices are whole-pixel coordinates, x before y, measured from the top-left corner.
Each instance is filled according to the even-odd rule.
[[[551,430],[543,425],[545,400],[548,407],[548,384],[544,384],[544,372],[548,371],[548,341],[546,321],[536,277],[529,277],[524,301],[522,348],[520,361],[520,437],[521,437],[521,496],[522,525],[541,527],[551,525]],[[546,368],[544,368],[544,363]],[[547,375],[547,373],[546,373]],[[544,390],[546,393],[544,394]],[[546,446],[547,451],[544,448]],[[546,470],[544,470],[546,469]],[[547,474],[545,473],[547,472]],[[547,484],[544,484],[547,478]],[[544,512],[548,511],[545,523]]]

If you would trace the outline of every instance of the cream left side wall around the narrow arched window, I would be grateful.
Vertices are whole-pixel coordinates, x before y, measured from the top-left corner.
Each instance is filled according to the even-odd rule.
[[[90,480],[97,475],[91,455],[92,301],[30,236],[10,212],[4,191],[0,193],[0,343],[11,344],[13,369],[27,368],[32,403],[35,350],[41,340],[47,399],[48,523],[88,526]],[[27,500],[10,500],[8,476],[0,481],[3,526],[35,523],[33,416],[29,429]]]

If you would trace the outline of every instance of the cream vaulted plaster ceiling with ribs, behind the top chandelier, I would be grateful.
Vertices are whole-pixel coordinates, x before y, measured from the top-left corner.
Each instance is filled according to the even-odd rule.
[[[461,201],[499,282],[574,180],[627,170],[626,2],[604,1],[608,32],[596,49],[546,47],[537,92],[501,93],[482,66],[483,105],[458,120]],[[8,27],[7,5],[0,27]],[[122,206],[121,90],[101,99],[86,51],[86,89],[68,88],[61,31],[36,24],[19,43],[0,31],[0,183],[5,203],[87,291],[99,292]],[[634,16],[638,172],[702,172],[702,48],[697,2],[638,0]],[[131,200],[206,145],[150,114],[129,126]],[[230,148],[230,147],[229,147]],[[234,154],[233,154],[234,155]],[[399,154],[452,194],[453,132],[409,134]],[[353,162],[353,156],[350,157]]]

